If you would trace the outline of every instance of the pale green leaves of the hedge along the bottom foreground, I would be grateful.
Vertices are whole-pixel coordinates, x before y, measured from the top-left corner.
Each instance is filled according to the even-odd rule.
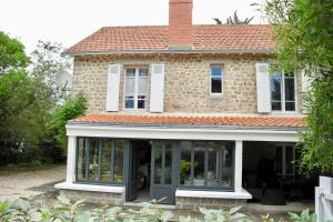
[[[174,215],[170,211],[157,208],[162,200],[152,200],[142,203],[139,211],[124,210],[119,206],[109,208],[101,205],[93,210],[82,210],[84,201],[75,201],[64,196],[58,196],[58,203],[54,206],[47,208],[42,201],[32,201],[21,198],[13,202],[0,202],[0,221],[36,221],[36,222],[168,222],[174,221]],[[239,213],[241,206],[230,210],[208,210],[200,209],[202,219],[192,216],[180,216],[180,222],[250,222],[251,220],[242,213]],[[304,210],[301,214],[289,213],[290,222],[315,222],[315,214]],[[262,216],[263,222],[274,222],[269,214]],[[283,219],[280,220],[283,222]]]

